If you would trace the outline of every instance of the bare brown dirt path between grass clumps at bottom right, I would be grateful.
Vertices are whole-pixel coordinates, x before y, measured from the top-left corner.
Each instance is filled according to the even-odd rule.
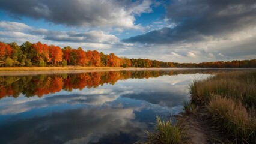
[[[231,143],[214,128],[209,116],[206,107],[198,107],[195,114],[181,113],[176,116],[184,131],[184,139],[181,140],[181,143]]]

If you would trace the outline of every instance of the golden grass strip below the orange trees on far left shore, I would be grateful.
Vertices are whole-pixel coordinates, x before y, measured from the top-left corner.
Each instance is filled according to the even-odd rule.
[[[122,67],[0,67],[0,71],[49,71],[49,70],[110,70]]]

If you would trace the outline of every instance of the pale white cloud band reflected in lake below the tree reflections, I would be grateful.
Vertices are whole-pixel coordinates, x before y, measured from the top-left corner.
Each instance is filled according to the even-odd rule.
[[[44,100],[35,101],[23,101],[22,103],[13,104],[10,109],[1,109],[0,114],[14,114],[28,112],[34,108],[42,108],[52,105],[59,105],[62,103],[67,103],[71,105],[75,104],[87,104],[88,106],[100,106],[105,103],[114,101],[118,98],[116,92],[111,92],[109,89],[97,89],[97,92],[102,91],[102,94],[97,94],[94,90],[88,91],[83,94],[79,91],[76,94],[69,95],[55,95],[53,97],[46,97]],[[126,94],[127,92],[120,92],[120,94]],[[129,92],[128,92],[129,93]]]

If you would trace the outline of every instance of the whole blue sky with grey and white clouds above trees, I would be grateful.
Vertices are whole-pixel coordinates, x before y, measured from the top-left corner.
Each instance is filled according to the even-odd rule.
[[[256,58],[255,0],[0,0],[0,41],[127,58]]]

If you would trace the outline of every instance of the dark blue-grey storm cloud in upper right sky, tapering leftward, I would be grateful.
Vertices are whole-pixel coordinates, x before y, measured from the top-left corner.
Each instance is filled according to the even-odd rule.
[[[187,43],[216,38],[256,24],[255,0],[171,1],[166,16],[174,28],[163,28],[123,40],[126,43]]]

